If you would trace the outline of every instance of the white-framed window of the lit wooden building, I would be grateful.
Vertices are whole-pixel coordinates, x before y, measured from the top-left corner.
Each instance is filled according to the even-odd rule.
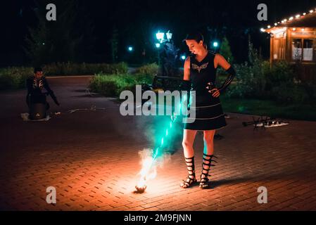
[[[292,60],[313,61],[314,60],[313,39],[293,39]]]

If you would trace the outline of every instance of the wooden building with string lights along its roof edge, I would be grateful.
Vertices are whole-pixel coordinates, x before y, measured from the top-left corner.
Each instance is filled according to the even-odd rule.
[[[316,81],[316,8],[262,28],[270,34],[270,63],[300,63],[300,78]]]

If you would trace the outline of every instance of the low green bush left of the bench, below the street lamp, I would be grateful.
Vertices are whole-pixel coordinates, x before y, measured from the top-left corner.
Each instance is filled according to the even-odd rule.
[[[125,90],[134,93],[135,86],[152,84],[153,75],[104,75],[98,74],[91,79],[89,88],[105,96],[118,97]]]

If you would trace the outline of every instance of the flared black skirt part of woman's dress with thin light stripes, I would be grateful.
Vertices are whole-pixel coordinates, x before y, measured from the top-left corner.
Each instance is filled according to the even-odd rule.
[[[194,94],[191,93],[188,110],[195,110],[196,115],[194,117],[194,114],[190,113],[185,117],[184,129],[208,131],[227,126],[220,98],[214,98],[211,94],[196,96],[196,105],[194,106],[191,104],[192,97]]]

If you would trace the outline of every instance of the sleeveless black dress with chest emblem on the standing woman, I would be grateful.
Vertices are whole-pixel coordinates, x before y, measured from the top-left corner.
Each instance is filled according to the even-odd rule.
[[[217,69],[214,67],[214,58],[215,54],[212,52],[208,52],[206,58],[201,62],[198,62],[194,55],[190,56],[191,91],[188,109],[195,110],[196,115],[193,118],[186,117],[184,129],[206,131],[227,126],[220,98],[213,97],[208,92],[209,89],[206,89],[208,83],[211,83],[213,87],[216,84]],[[196,91],[196,93],[194,94],[192,91]],[[194,97],[195,106],[192,104]]]

